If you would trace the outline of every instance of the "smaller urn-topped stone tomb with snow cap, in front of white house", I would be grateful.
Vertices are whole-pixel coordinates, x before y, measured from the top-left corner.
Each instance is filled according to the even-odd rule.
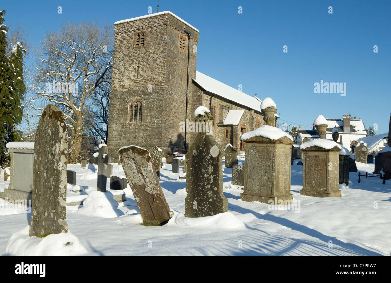
[[[334,141],[323,139],[326,133],[327,121],[319,115],[314,125],[320,139],[301,144],[303,158],[303,189],[300,194],[305,196],[340,197],[339,190],[339,151],[341,145]]]

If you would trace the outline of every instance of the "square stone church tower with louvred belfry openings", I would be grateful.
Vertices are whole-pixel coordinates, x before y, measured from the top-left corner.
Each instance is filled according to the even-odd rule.
[[[160,12],[116,22],[114,35],[109,154],[117,162],[122,146],[158,146],[163,153],[184,148],[180,122],[186,116],[192,121],[190,105],[201,103],[190,95],[198,30],[171,12]]]

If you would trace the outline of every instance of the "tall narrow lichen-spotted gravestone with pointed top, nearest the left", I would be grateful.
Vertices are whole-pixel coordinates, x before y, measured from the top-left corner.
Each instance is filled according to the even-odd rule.
[[[30,236],[66,233],[67,130],[55,105],[43,110],[36,130]]]

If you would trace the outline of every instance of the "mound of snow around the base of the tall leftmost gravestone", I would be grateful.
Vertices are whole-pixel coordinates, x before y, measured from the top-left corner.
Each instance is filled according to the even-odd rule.
[[[30,226],[13,233],[5,252],[14,256],[77,256],[88,251],[79,239],[68,233],[51,234],[44,238],[29,236]]]

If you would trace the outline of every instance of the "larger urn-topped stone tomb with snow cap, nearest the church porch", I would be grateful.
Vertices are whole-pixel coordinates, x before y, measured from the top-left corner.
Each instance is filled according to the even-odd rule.
[[[290,205],[291,154],[293,139],[272,125],[277,109],[274,101],[262,101],[262,114],[267,125],[244,133],[246,162],[244,163],[243,201],[260,201],[274,205]]]

